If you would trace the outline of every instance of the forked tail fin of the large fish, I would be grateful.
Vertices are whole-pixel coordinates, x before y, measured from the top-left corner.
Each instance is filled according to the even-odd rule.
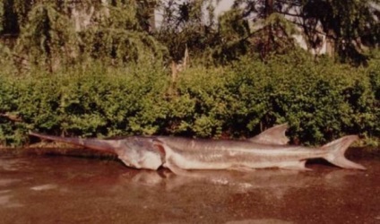
[[[366,169],[358,163],[352,162],[344,157],[344,153],[352,142],[358,140],[358,135],[347,135],[322,146],[327,151],[324,157],[327,161],[340,168]]]

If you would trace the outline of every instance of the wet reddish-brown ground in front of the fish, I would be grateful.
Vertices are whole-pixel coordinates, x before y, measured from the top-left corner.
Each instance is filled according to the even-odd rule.
[[[380,159],[367,171],[198,171],[117,160],[1,156],[1,223],[380,223]]]

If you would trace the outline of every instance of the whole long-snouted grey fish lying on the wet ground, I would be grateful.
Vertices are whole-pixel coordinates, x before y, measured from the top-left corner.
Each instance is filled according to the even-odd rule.
[[[41,139],[82,145],[117,154],[132,168],[186,169],[287,168],[305,170],[307,159],[322,158],[341,168],[366,169],[344,157],[357,135],[344,136],[319,148],[288,145],[288,125],[274,126],[248,140],[199,140],[168,136],[133,136],[120,140],[65,138],[34,134]]]

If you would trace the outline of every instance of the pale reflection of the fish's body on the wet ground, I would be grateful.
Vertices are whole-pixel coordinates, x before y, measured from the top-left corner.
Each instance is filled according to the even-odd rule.
[[[255,189],[267,189],[278,195],[291,188],[304,188],[317,185],[342,187],[348,184],[346,177],[358,172],[335,169],[323,174],[298,172],[282,169],[259,169],[251,172],[229,170],[189,171],[188,175],[178,176],[168,170],[130,170],[120,175],[118,185],[161,186],[167,191],[177,190],[187,185],[225,186],[236,193],[247,193]],[[315,178],[318,181],[315,181]]]

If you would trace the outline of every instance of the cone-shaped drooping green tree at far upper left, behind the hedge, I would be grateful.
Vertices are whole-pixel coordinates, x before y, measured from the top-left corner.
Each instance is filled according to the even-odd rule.
[[[22,30],[15,51],[25,54],[31,65],[45,66],[53,71],[61,64],[69,65],[78,51],[78,41],[73,23],[55,4],[36,4],[29,13],[29,22]]]

